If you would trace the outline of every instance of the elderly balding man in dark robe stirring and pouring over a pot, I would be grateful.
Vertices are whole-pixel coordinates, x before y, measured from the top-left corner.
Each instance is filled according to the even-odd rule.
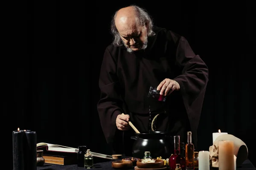
[[[134,130],[128,121],[140,133],[170,132],[180,135],[181,142],[186,142],[187,131],[192,131],[196,147],[207,65],[183,36],[154,26],[149,14],[138,6],[116,11],[111,32],[113,43],[102,61],[97,108],[113,153],[131,154],[129,139]],[[166,100],[148,97],[151,86]],[[120,147],[123,145],[125,149]]]

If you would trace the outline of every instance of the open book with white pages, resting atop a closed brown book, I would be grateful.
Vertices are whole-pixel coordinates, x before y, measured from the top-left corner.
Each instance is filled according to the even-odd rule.
[[[49,143],[38,143],[36,144],[37,149],[42,149],[45,148],[45,150],[47,151],[55,151],[55,152],[65,152],[65,153],[77,153],[79,151],[78,148],[74,148],[74,147],[67,147],[67,146],[63,146],[63,145],[59,145],[59,144],[49,144]],[[105,159],[113,159],[112,156],[110,155],[104,155],[101,153],[95,153],[95,152],[91,152],[91,154],[93,154],[93,156],[99,157],[99,158],[105,158]]]

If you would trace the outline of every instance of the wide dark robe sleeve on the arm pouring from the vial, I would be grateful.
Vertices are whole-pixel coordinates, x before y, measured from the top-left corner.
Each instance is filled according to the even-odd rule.
[[[208,83],[208,67],[195,55],[188,41],[180,37],[177,44],[176,62],[182,74],[175,77],[180,85],[180,92],[190,120],[192,130],[197,130],[204,95]]]

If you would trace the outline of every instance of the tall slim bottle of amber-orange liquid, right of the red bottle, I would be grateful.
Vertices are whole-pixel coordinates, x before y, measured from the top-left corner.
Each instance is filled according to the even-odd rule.
[[[187,143],[185,145],[186,170],[195,170],[195,153],[194,144],[192,143],[192,132],[187,132]]]

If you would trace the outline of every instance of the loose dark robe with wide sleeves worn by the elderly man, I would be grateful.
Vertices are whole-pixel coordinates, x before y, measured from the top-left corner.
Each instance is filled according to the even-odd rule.
[[[120,150],[124,134],[134,133],[132,129],[118,130],[116,116],[129,114],[140,133],[147,133],[150,130],[149,106],[153,115],[167,111],[157,117],[156,131],[171,131],[181,136],[180,142],[186,143],[186,132],[191,130],[197,147],[197,128],[208,82],[207,65],[194,54],[184,37],[165,28],[154,27],[154,31],[156,35],[148,37],[145,51],[128,53],[125,46],[114,45],[105,50],[97,108],[103,133],[113,153],[125,152]],[[166,78],[177,81],[180,91],[173,91],[165,102],[154,102],[148,97],[149,88],[157,87]],[[182,132],[179,131],[182,128]],[[131,150],[131,146],[127,148]]]

